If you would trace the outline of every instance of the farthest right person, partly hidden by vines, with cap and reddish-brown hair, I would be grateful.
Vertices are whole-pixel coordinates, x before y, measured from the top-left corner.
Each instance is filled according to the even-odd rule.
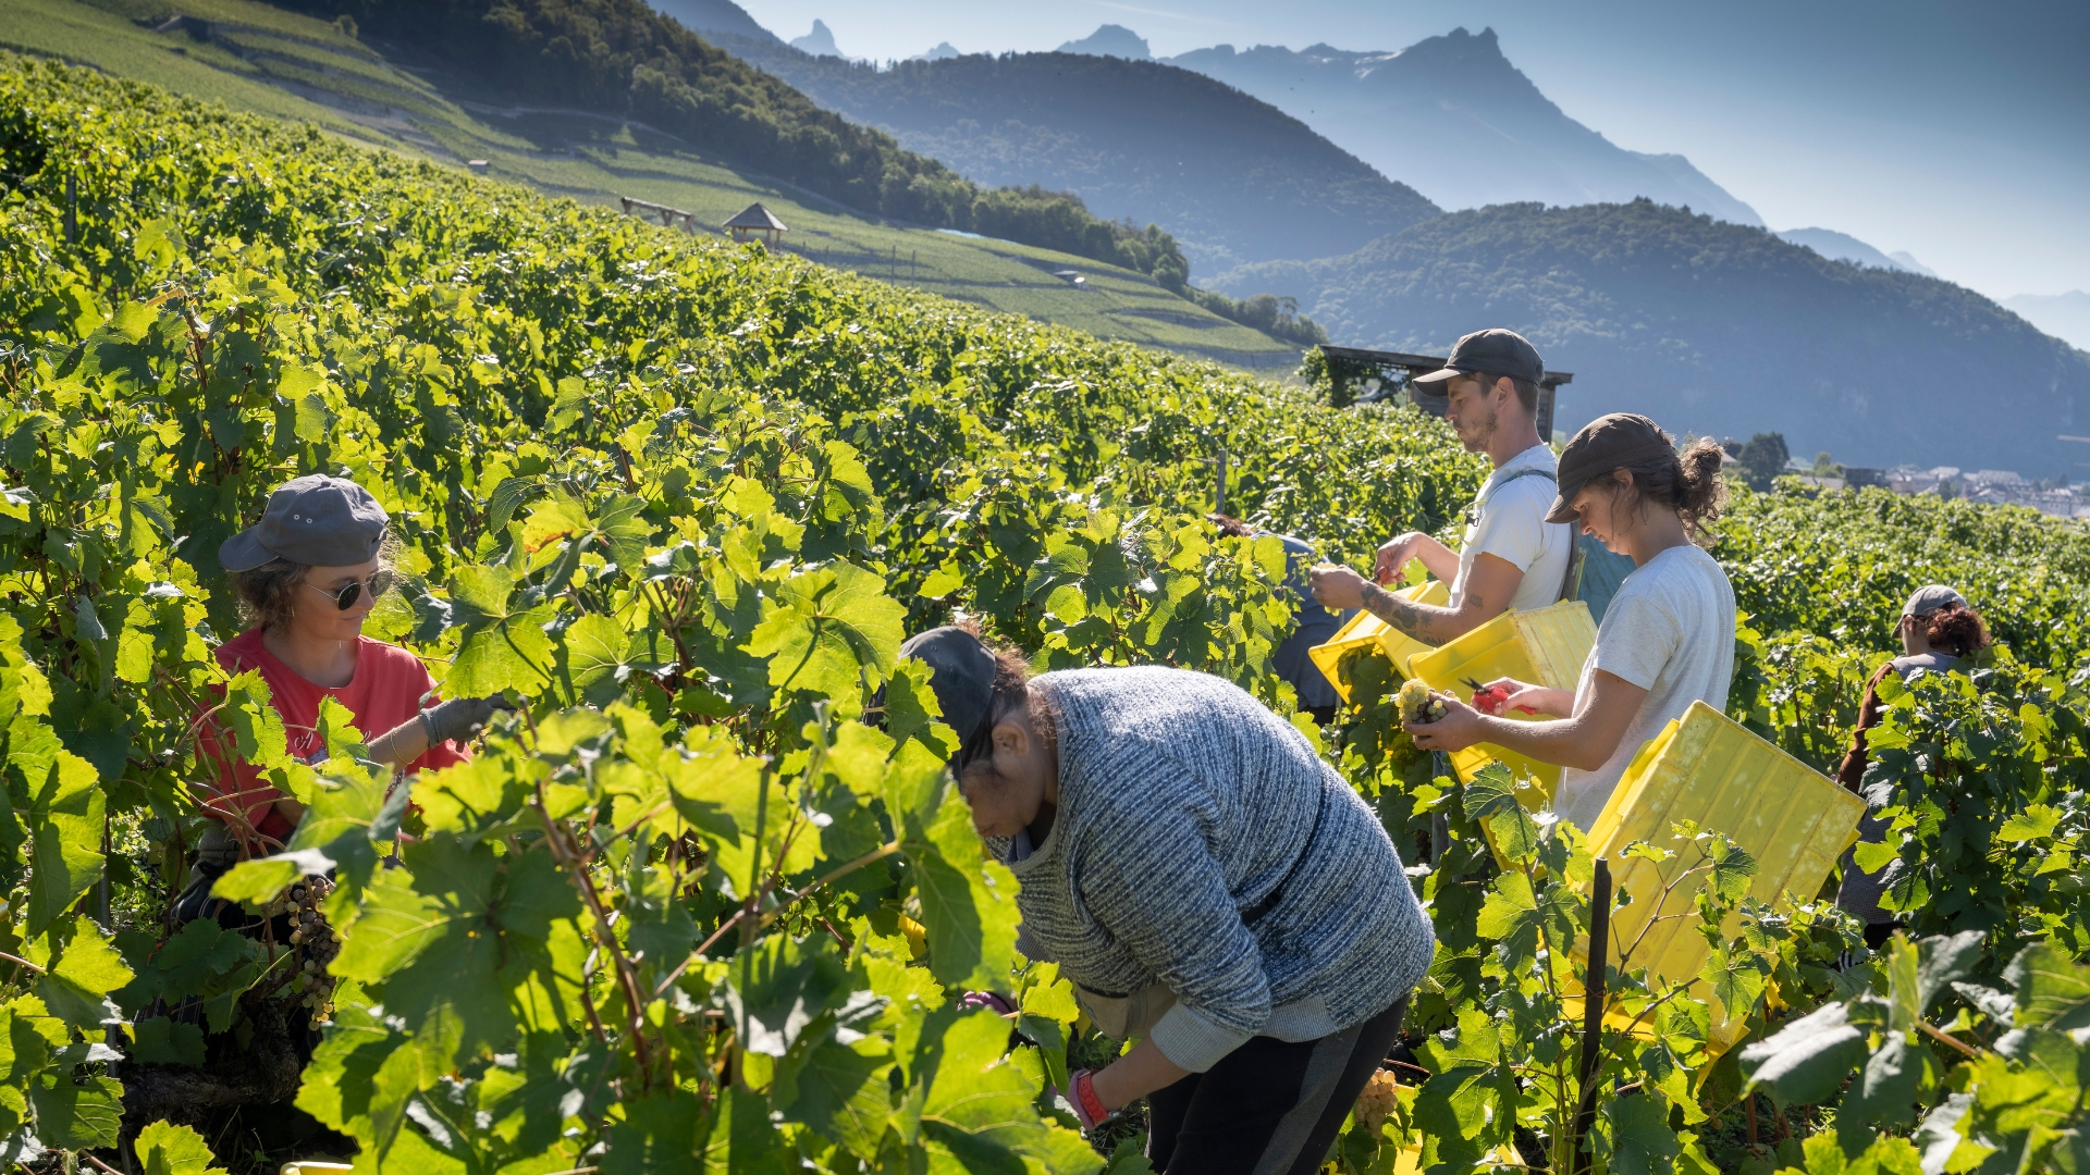
[[[1894,636],[1902,642],[1902,654],[1866,679],[1864,700],[1858,702],[1858,730],[1852,732],[1850,753],[1843,755],[1843,765],[1835,774],[1839,784],[1866,799],[1866,807],[1894,803],[1891,782],[1883,782],[1875,790],[1864,786],[1864,769],[1871,765],[1864,732],[1879,725],[1879,684],[1887,673],[1898,673],[1902,682],[1914,682],[1923,673],[1950,673],[1990,644],[1981,613],[1975,613],[1965,596],[1944,583],[1927,583],[1908,596],[1908,602],[1902,604],[1902,617],[1894,621]],[[1858,822],[1858,840],[1881,840],[1885,834],[1887,822],[1877,815],[1866,813]],[[1868,874],[1858,868],[1856,849],[1845,849],[1843,886],[1837,891],[1835,903],[1864,920],[1864,945],[1875,951],[1902,924],[1894,912],[1879,907],[1885,893],[1887,868],[1881,866],[1877,874]]]

